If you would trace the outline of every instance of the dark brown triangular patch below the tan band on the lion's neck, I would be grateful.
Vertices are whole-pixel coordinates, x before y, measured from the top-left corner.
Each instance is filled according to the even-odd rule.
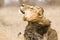
[[[34,23],[34,22],[29,22],[29,24],[33,30],[35,30],[38,34],[40,35],[44,35],[45,33],[47,33],[48,29],[50,26],[43,26],[41,24],[38,24],[38,23]]]

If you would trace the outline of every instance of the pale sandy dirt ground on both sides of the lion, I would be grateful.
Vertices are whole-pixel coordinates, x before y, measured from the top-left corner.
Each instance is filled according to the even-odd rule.
[[[21,40],[18,33],[24,33],[27,22],[23,21],[23,15],[18,10],[19,7],[15,6],[0,8],[0,40]],[[47,6],[44,11],[46,18],[52,21],[51,27],[57,31],[60,40],[60,6]]]

